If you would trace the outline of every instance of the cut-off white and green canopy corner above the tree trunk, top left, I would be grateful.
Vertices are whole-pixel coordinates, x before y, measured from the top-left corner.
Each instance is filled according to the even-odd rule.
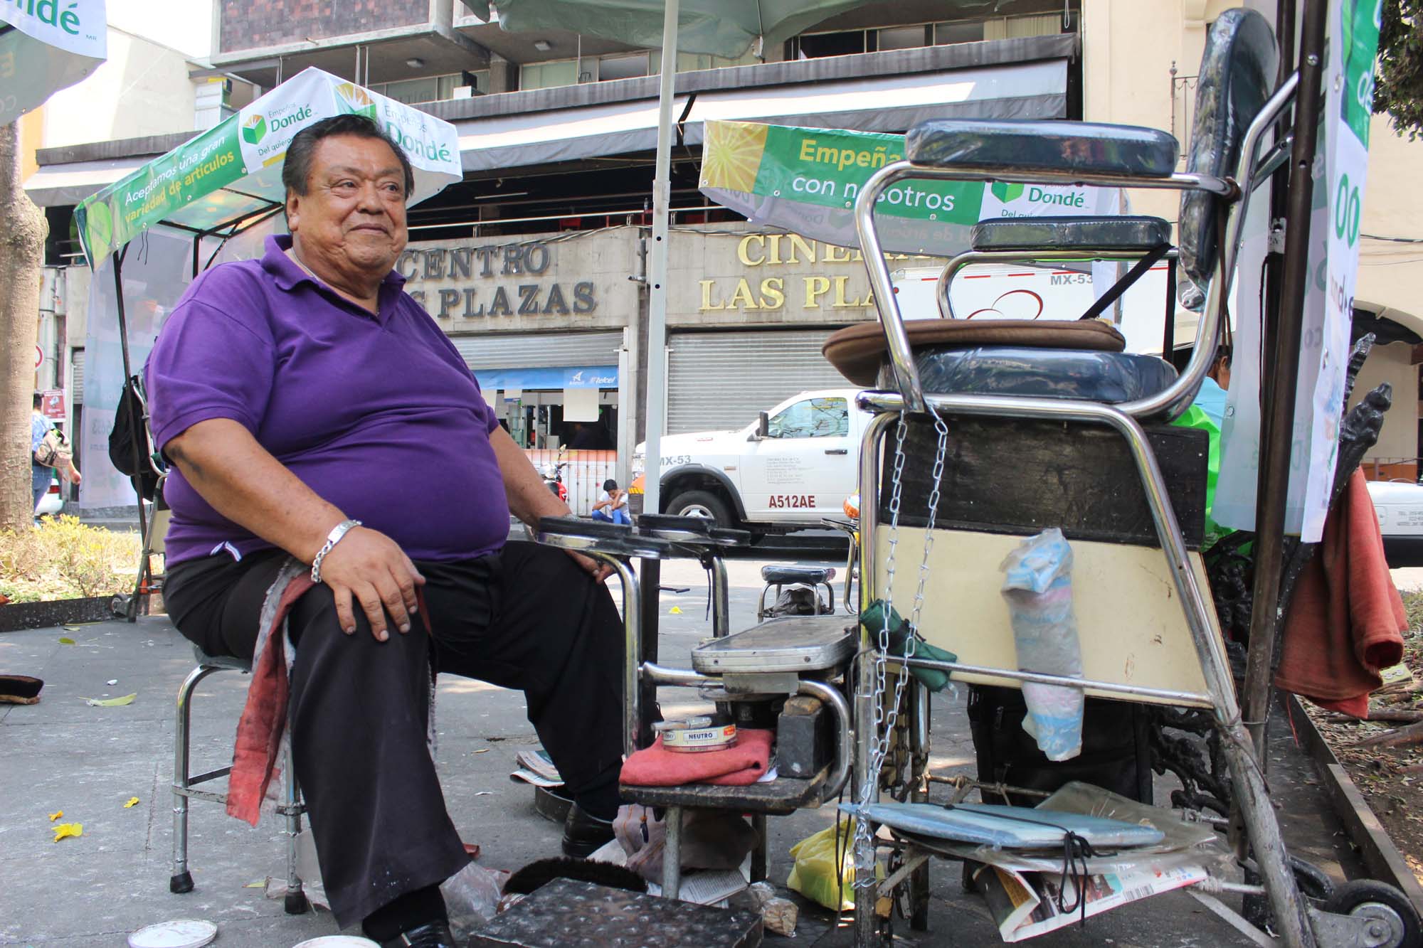
[[[0,0],[0,125],[108,57],[104,0]]]

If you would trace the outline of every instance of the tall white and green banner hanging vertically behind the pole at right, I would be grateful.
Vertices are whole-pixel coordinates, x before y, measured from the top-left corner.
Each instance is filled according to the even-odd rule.
[[[1291,444],[1285,532],[1318,542],[1329,512],[1343,421],[1343,386],[1359,273],[1359,222],[1369,169],[1373,70],[1379,51],[1380,0],[1331,0],[1313,206],[1309,218],[1309,278],[1301,330],[1299,384]],[[1258,266],[1262,248],[1241,253],[1241,280]],[[1257,299],[1247,293],[1244,299]],[[1241,315],[1247,315],[1241,307]],[[1259,471],[1259,326],[1241,320],[1221,431],[1224,455],[1214,518],[1254,530]]]

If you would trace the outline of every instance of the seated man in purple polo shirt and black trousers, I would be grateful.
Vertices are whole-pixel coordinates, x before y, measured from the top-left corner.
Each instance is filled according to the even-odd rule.
[[[250,658],[295,557],[292,746],[337,921],[453,945],[438,885],[468,863],[425,744],[430,670],[522,689],[575,807],[564,851],[612,838],[622,625],[591,559],[505,542],[566,515],[391,268],[400,145],[343,115],[282,172],[290,238],[194,280],[147,366],[174,461],[164,598],[178,631]],[[424,611],[418,611],[421,591]]]

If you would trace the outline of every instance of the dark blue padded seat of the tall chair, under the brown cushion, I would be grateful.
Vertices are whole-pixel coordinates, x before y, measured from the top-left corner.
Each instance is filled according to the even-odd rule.
[[[919,381],[931,394],[1083,399],[1117,404],[1164,391],[1175,369],[1157,356],[1081,349],[919,349]],[[888,366],[881,387],[894,386]]]

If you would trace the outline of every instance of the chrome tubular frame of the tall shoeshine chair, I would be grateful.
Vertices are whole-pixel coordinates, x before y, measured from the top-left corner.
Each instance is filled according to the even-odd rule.
[[[1184,411],[1190,400],[1195,396],[1207,369],[1215,357],[1215,344],[1220,332],[1222,299],[1227,292],[1229,276],[1235,272],[1235,260],[1241,242],[1245,212],[1254,189],[1266,178],[1262,169],[1274,161],[1274,152],[1262,162],[1255,161],[1259,144],[1266,131],[1275,124],[1285,107],[1294,98],[1298,85],[1298,74],[1291,75],[1264,104],[1259,114],[1249,124],[1241,142],[1239,158],[1237,161],[1234,178],[1217,178],[1212,175],[1194,172],[1175,172],[1163,178],[1131,178],[1117,175],[1094,175],[1081,172],[1012,172],[1005,174],[988,167],[956,167],[939,168],[915,165],[909,161],[899,161],[875,172],[865,184],[855,201],[855,223],[859,232],[859,245],[864,252],[865,268],[869,272],[871,288],[878,303],[879,316],[888,342],[888,356],[896,391],[877,393],[867,391],[858,399],[859,407],[877,413],[877,417],[867,426],[861,446],[861,528],[859,549],[861,564],[864,564],[859,596],[861,609],[877,598],[877,576],[872,568],[875,562],[875,542],[878,524],[878,493],[879,493],[879,451],[885,433],[891,423],[905,413],[924,414],[931,409],[936,413],[998,416],[1013,418],[1043,418],[1057,421],[1080,421],[1091,424],[1106,424],[1114,428],[1127,441],[1131,455],[1141,477],[1147,504],[1151,510],[1157,538],[1165,554],[1174,579],[1191,639],[1195,646],[1201,670],[1205,676],[1207,690],[1204,695],[1171,693],[1158,689],[1144,689],[1131,685],[1113,682],[1083,682],[1059,675],[1039,675],[1019,672],[1016,669],[980,669],[958,662],[933,662],[928,659],[908,659],[911,666],[936,668],[946,672],[983,673],[990,672],[999,678],[1019,682],[1042,682],[1046,685],[1063,685],[1069,688],[1099,688],[1103,692],[1131,696],[1153,696],[1173,702],[1205,703],[1211,707],[1215,725],[1220,729],[1222,752],[1227,759],[1231,776],[1237,789],[1237,804],[1244,824],[1245,836],[1252,847],[1255,864],[1264,880],[1264,894],[1274,911],[1279,935],[1284,944],[1295,948],[1312,948],[1313,912],[1306,910],[1305,901],[1299,895],[1299,888],[1291,873],[1285,853],[1279,824],[1269,801],[1264,771],[1251,744],[1249,734],[1241,720],[1239,705],[1235,699],[1234,680],[1229,663],[1221,642],[1217,639],[1210,625],[1210,609],[1212,608],[1207,595],[1197,582],[1195,574],[1190,568],[1185,542],[1180,524],[1167,494],[1165,481],[1155,455],[1141,428],[1143,418],[1171,418]],[[1278,149],[1276,149],[1278,151]],[[1074,399],[1036,399],[1019,396],[980,396],[980,394],[931,394],[925,396],[919,374],[914,364],[909,339],[904,329],[904,317],[894,295],[889,266],[885,259],[878,233],[875,231],[874,211],[879,195],[889,185],[906,178],[929,178],[941,181],[1007,181],[1022,184],[1072,184],[1072,185],[1101,185],[1121,188],[1154,188],[1175,191],[1207,191],[1231,201],[1227,211],[1227,241],[1217,255],[1212,276],[1207,289],[1205,309],[1197,333],[1198,344],[1194,347],[1191,360],[1185,372],[1165,390],[1127,401],[1121,404],[1104,404]],[[864,636],[862,649],[874,652],[875,643],[869,636]],[[855,771],[864,774],[871,763],[871,746],[874,734],[874,693],[872,662],[861,660],[855,690]],[[878,786],[878,783],[875,783]],[[1242,841],[1244,844],[1244,841]],[[867,848],[868,851],[861,851]],[[1244,851],[1241,851],[1244,857]],[[865,865],[875,858],[874,843],[857,841],[855,863]],[[855,942],[869,945],[875,938],[875,915],[872,898],[858,898],[855,901]]]

